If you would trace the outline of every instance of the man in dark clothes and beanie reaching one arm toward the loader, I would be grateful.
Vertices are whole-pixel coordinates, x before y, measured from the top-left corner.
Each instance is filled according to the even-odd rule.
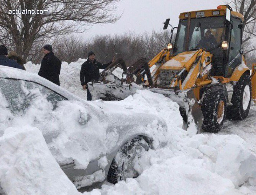
[[[87,90],[87,100],[92,100],[92,96],[90,94],[90,91],[88,90],[87,83],[91,82],[92,80],[99,80],[99,69],[107,68],[107,66],[109,66],[113,61],[114,58],[111,62],[107,64],[102,64],[96,61],[93,51],[90,51],[88,53],[88,59],[82,64],[80,71],[80,81],[83,89]]]

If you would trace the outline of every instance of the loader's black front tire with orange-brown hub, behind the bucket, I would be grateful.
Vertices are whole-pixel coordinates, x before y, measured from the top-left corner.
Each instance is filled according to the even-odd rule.
[[[224,91],[207,90],[202,98],[204,121],[202,129],[217,133],[221,130],[226,118],[227,100]]]

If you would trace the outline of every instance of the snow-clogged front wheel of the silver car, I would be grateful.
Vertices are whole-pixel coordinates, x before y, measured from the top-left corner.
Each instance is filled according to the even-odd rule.
[[[128,177],[136,178],[139,173],[135,170],[135,163],[142,153],[148,151],[149,144],[142,137],[135,137],[126,142],[117,152],[108,171],[107,180],[116,184]]]

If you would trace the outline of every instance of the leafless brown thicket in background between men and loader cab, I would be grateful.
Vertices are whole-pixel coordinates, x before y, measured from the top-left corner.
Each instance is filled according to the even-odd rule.
[[[175,39],[175,34],[173,38]],[[68,63],[77,61],[79,58],[87,58],[88,52],[92,50],[96,54],[96,59],[102,63],[109,62],[118,53],[118,57],[122,57],[127,66],[130,66],[141,57],[148,61],[151,60],[167,46],[169,41],[169,31],[153,31],[143,35],[133,33],[114,36],[102,35],[96,36],[90,41],[71,35],[56,42],[54,48],[57,48],[55,53],[58,58]],[[38,63],[39,61],[34,62]]]

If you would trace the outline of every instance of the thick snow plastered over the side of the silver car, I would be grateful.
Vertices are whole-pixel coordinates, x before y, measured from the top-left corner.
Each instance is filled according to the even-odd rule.
[[[37,127],[42,131],[57,162],[62,165],[74,161],[77,168],[86,168],[90,160],[111,149],[107,142],[107,123],[99,120],[96,110],[92,107],[78,101],[61,101],[54,110],[51,102],[39,89],[26,92],[36,98],[29,102],[31,106],[19,115],[10,112],[7,101],[0,93],[0,108],[3,108],[0,115],[0,121],[3,121],[0,123],[0,136],[9,127]],[[20,99],[22,100],[22,97]],[[90,117],[90,120],[86,124],[79,123],[81,115],[82,120],[88,120],[87,117]],[[100,117],[104,118],[103,114]]]

